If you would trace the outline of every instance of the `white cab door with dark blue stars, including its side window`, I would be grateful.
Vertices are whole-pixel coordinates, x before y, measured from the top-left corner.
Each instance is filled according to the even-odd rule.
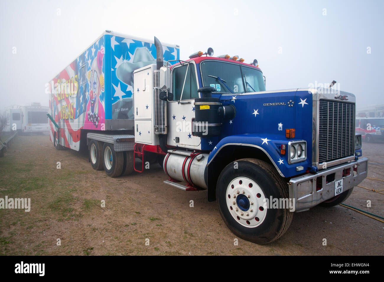
[[[172,69],[173,100],[167,103],[167,144],[199,149],[200,137],[192,135],[192,121],[195,118],[197,92],[196,66],[194,62],[183,63]]]

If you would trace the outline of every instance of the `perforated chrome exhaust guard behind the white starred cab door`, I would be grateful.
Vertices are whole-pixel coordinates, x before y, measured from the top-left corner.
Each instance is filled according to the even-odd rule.
[[[159,99],[160,89],[160,71],[153,71],[153,88],[155,95],[155,118],[154,132],[155,134],[166,134],[166,102]]]

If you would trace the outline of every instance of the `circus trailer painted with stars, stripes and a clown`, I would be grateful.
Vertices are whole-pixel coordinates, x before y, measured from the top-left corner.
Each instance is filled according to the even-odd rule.
[[[133,72],[156,63],[153,43],[106,30],[48,82],[50,140],[57,149],[78,151],[89,145],[87,134],[96,140],[133,134]],[[179,58],[178,45],[163,49],[162,59]]]

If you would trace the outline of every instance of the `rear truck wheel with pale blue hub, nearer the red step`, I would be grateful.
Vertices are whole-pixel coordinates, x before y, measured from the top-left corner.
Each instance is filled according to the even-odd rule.
[[[103,156],[104,170],[107,175],[111,177],[120,176],[124,165],[123,152],[116,152],[113,144],[104,143]]]

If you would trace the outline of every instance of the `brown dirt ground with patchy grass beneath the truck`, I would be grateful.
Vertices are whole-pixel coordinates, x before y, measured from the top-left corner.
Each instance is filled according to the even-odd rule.
[[[363,143],[368,177],[384,180],[384,143]],[[61,162],[61,168],[57,168]],[[95,171],[88,152],[58,151],[48,136],[17,136],[0,158],[0,198],[30,198],[31,210],[0,209],[2,255],[383,255],[384,224],[343,206],[295,213],[275,242],[238,239],[206,191],[163,183],[158,164],[130,176]],[[366,179],[361,186],[384,189]],[[101,208],[101,201],[105,207]],[[190,207],[190,200],[194,206]],[[367,208],[367,200],[371,207]],[[384,195],[355,187],[345,204],[384,217]],[[323,239],[327,245],[323,246]],[[58,246],[58,239],[60,245]],[[149,246],[146,245],[149,239]],[[148,241],[147,241],[148,242]]]

